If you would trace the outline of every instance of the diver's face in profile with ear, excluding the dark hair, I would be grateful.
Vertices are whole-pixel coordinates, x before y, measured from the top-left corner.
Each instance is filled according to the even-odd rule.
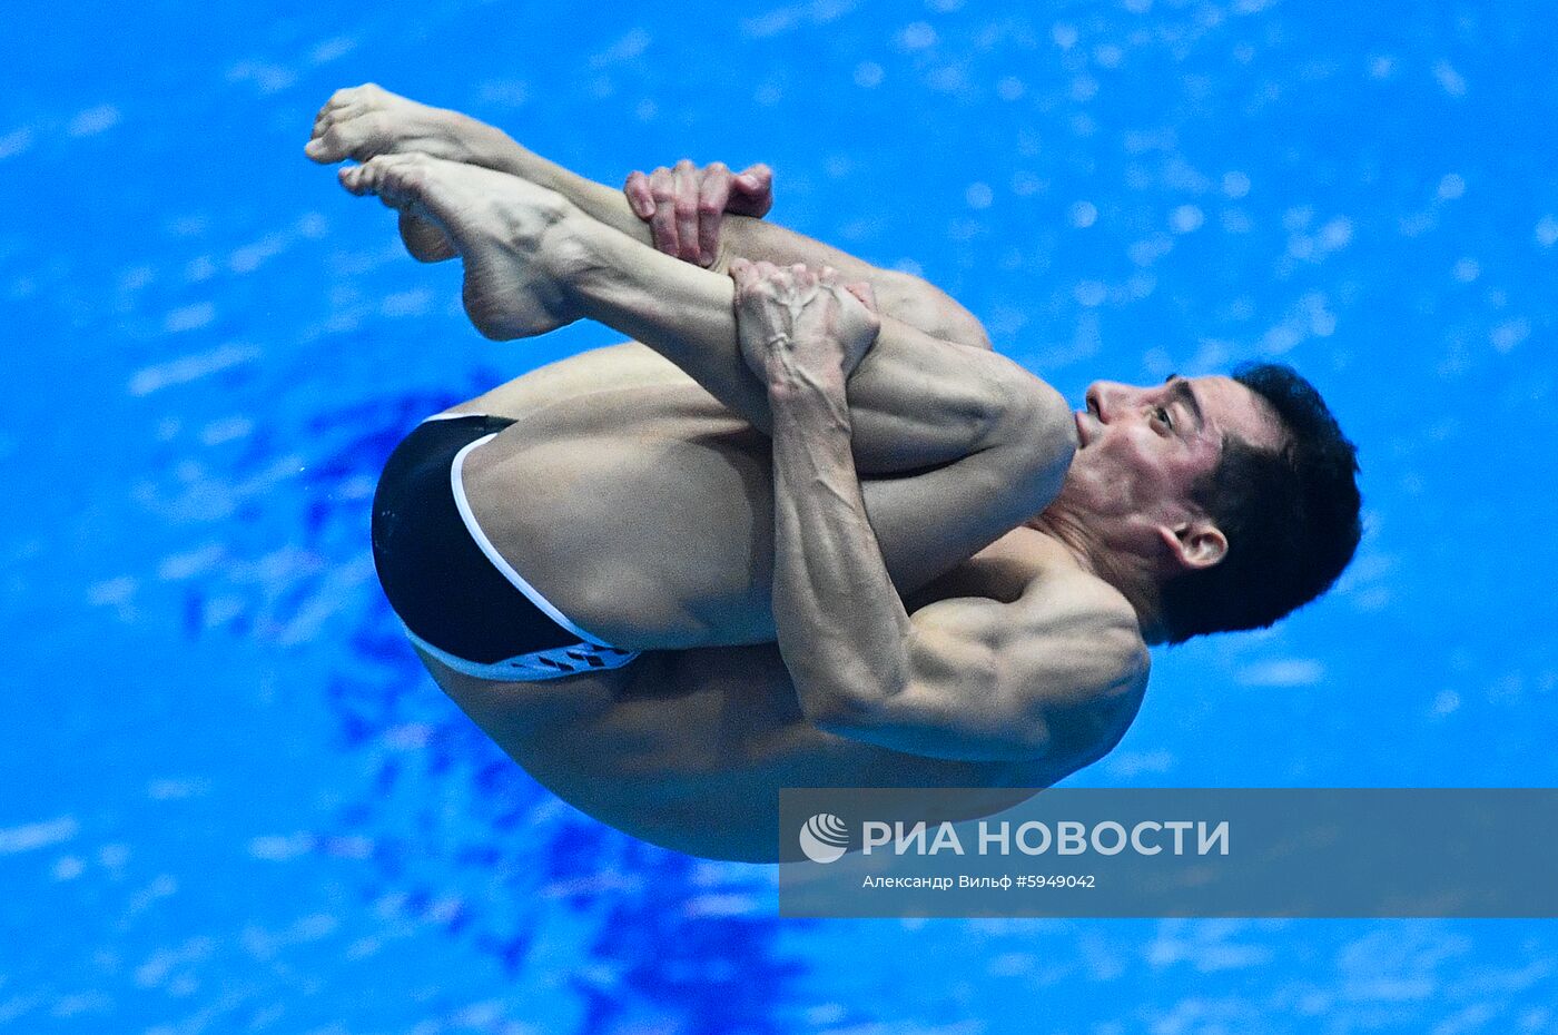
[[[1080,447],[1056,502],[1111,547],[1172,566],[1215,563],[1226,550],[1190,499],[1217,469],[1225,436],[1276,449],[1281,426],[1231,377],[1175,376],[1150,388],[1089,385],[1077,435]]]

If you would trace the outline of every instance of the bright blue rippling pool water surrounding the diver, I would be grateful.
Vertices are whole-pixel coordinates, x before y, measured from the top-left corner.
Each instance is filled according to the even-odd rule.
[[[1359,441],[1323,603],[1159,653],[1077,786],[1553,786],[1549,5],[44,5],[0,45],[0,1030],[1552,1032],[1542,921],[781,923],[414,666],[368,499],[492,344],[302,157],[375,79],[620,182],[777,170],[1080,399],[1276,357]],[[1499,879],[1489,874],[1489,879]]]

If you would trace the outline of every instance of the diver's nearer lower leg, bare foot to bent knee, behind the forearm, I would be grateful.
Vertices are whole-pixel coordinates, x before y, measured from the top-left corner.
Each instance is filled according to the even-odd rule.
[[[735,335],[728,277],[664,256],[514,176],[419,154],[382,156],[341,171],[354,193],[436,223],[466,262],[466,307],[477,327],[514,338],[589,316],[681,366],[751,424],[770,427],[768,397]],[[1075,444],[1064,401],[991,352],[949,346],[883,320],[877,346],[849,382],[854,447],[865,474],[902,474],[996,444],[1011,412],[1038,413],[1049,466]],[[1013,518],[1013,524],[1025,514]]]

